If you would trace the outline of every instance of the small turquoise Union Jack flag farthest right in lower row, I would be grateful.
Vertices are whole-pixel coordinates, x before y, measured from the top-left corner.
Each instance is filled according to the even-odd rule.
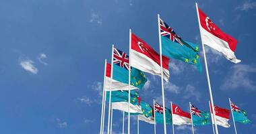
[[[243,123],[243,124],[251,123],[251,121],[247,117],[247,113],[244,110],[240,110],[231,101],[230,101],[230,105],[231,105],[232,113],[234,116],[234,121],[238,123]]]

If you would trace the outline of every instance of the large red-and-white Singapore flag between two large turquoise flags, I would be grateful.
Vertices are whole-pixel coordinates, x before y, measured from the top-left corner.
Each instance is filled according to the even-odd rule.
[[[150,74],[161,76],[160,55],[151,48],[146,42],[131,34],[131,66],[148,72]],[[169,74],[169,59],[162,56],[162,69],[164,80],[168,81]]]

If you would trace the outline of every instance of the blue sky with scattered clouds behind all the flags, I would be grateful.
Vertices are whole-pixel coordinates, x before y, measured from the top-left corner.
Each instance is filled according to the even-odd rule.
[[[223,31],[238,40],[232,64],[206,48],[214,103],[229,108],[228,97],[247,111],[252,123],[236,124],[238,133],[256,131],[256,1],[197,1]],[[110,61],[111,44],[128,52],[129,28],[158,48],[157,13],[183,39],[200,44],[195,1],[146,0],[1,0],[0,1],[0,133],[98,133],[104,59]],[[200,46],[201,49],[201,46]],[[203,63],[203,59],[201,60]],[[189,101],[208,111],[205,70],[170,60],[170,100],[185,111]],[[147,74],[142,100],[160,102],[160,77]],[[121,132],[121,112],[114,111],[113,131]],[[135,118],[131,132],[136,132]],[[127,122],[126,122],[127,123]],[[127,124],[126,124],[127,125]],[[219,127],[220,133],[234,133]],[[141,133],[154,127],[140,122]],[[162,133],[162,125],[157,132]],[[171,133],[171,126],[168,126]],[[190,126],[175,126],[191,133]],[[196,127],[211,133],[212,127]]]

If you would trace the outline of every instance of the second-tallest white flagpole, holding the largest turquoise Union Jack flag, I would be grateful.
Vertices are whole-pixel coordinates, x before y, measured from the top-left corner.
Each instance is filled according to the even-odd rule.
[[[160,35],[160,15],[158,14],[158,38],[159,38],[159,48],[160,48],[160,66],[161,66],[161,82],[162,82],[162,107],[164,113],[164,134],[166,134],[166,119],[165,119],[165,102],[164,102],[164,74],[162,72],[162,40]]]

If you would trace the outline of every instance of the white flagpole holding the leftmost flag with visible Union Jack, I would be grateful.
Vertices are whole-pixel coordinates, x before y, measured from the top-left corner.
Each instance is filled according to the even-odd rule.
[[[109,101],[108,101],[108,134],[110,127],[110,110],[111,110],[111,89],[112,89],[112,78],[113,78],[113,53],[114,45],[112,45],[112,55],[111,55],[111,73],[110,73],[110,91],[109,91]]]

